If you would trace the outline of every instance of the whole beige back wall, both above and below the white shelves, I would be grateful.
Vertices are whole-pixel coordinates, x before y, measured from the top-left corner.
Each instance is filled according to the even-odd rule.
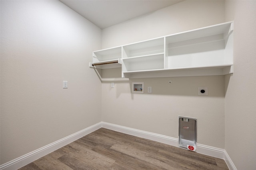
[[[224,22],[224,1],[183,1],[102,30],[102,47],[113,47]],[[113,74],[116,73],[116,74]],[[105,78],[120,68],[103,70]],[[172,84],[168,81],[172,80]],[[131,93],[144,82],[144,94]],[[198,143],[224,149],[224,76],[139,78],[102,83],[102,121],[178,138],[178,116],[198,119]],[[152,94],[147,87],[152,87]],[[208,96],[198,96],[208,87]]]

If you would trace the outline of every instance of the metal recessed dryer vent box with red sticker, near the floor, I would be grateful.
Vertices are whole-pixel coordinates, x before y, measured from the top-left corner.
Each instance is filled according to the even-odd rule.
[[[196,119],[179,117],[179,147],[196,151]]]

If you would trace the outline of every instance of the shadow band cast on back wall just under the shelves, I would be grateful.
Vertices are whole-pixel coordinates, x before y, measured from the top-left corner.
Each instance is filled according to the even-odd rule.
[[[97,73],[98,74],[98,73]],[[99,75],[98,75],[99,76]],[[121,68],[109,68],[101,71],[99,78],[104,89],[116,92],[118,98],[121,94],[130,93],[134,95],[172,95],[172,96],[198,96],[199,87],[208,88],[208,96],[199,97],[224,97],[225,84],[228,84],[225,76],[190,76],[190,77],[164,77],[164,78],[121,78]],[[226,82],[225,82],[226,80]],[[114,82],[115,87],[111,88]],[[144,93],[132,93],[132,82],[143,82]],[[171,82],[171,83],[170,83]],[[148,93],[151,87],[152,93]]]

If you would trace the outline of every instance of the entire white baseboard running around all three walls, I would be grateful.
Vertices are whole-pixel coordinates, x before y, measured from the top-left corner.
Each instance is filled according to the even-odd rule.
[[[42,156],[45,156],[46,154],[53,152],[54,150],[64,147],[65,145],[68,145],[69,143],[76,141],[77,139],[80,139],[81,137],[84,137],[85,135],[88,135],[89,133],[92,133],[93,131],[100,129],[101,127],[104,127],[106,129],[110,129],[110,130],[114,130],[114,131],[118,131],[121,133],[125,133],[128,135],[133,135],[136,137],[142,137],[144,139],[149,139],[152,141],[165,143],[167,145],[172,145],[174,147],[178,147],[178,139],[177,138],[159,135],[156,133],[150,133],[150,132],[146,132],[146,131],[141,131],[138,129],[132,129],[132,128],[124,127],[124,126],[120,126],[120,125],[114,125],[111,123],[100,122],[100,123],[97,123],[95,125],[92,125],[92,126],[86,128],[86,129],[83,129],[82,131],[74,133],[68,137],[60,139],[54,143],[46,145],[45,147],[34,150],[33,152],[30,152],[28,154],[25,154],[24,156],[21,156],[19,158],[16,158],[16,159],[10,161],[10,162],[2,164],[2,165],[0,165],[0,170],[16,170],[18,168],[21,168],[22,166],[25,166],[26,164],[29,164],[29,163],[33,162],[34,160],[37,160],[38,158],[41,158]],[[232,160],[230,159],[230,157],[228,156],[227,152],[224,149],[218,149],[215,147],[209,147],[206,145],[197,144],[196,152],[205,154],[208,156],[213,156],[216,158],[224,159],[230,170],[237,170],[236,167],[234,166]]]

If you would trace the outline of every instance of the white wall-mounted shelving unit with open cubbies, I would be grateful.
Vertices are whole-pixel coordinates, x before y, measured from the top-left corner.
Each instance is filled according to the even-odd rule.
[[[122,67],[123,78],[230,74],[233,22],[93,52],[93,63],[115,59],[122,61],[101,67]]]

